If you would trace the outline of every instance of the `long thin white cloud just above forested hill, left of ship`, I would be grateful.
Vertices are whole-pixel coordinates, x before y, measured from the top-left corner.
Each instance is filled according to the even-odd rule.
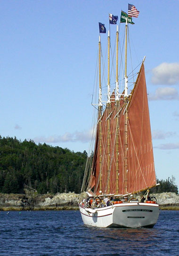
[[[83,131],[83,132],[74,132],[69,133],[66,132],[64,135],[52,135],[49,137],[35,137],[33,139],[36,143],[59,143],[59,142],[77,142],[80,141],[82,143],[89,142],[91,140],[92,133],[91,131]]]

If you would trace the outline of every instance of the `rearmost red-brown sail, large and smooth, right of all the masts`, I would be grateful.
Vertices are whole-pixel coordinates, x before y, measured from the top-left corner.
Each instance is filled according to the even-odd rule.
[[[150,117],[148,110],[144,64],[140,68],[128,107],[127,192],[142,190],[156,184]],[[123,115],[124,117],[124,115]],[[123,142],[124,118],[120,123]],[[121,153],[122,159],[122,153]],[[121,163],[120,169],[123,170]],[[122,174],[123,177],[124,174]],[[120,179],[121,193],[124,193]]]

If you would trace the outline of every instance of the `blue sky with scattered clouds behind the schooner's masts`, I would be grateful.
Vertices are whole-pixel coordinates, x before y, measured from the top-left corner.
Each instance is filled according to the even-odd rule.
[[[179,187],[179,1],[130,3],[140,11],[130,43],[135,65],[146,55],[156,175]],[[2,137],[88,152],[98,22],[108,30],[108,13],[127,9],[125,0],[0,1]]]

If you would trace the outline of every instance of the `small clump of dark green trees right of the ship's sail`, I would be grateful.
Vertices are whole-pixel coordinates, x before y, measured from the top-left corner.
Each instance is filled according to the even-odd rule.
[[[171,178],[168,179],[157,179],[157,183],[160,183],[159,186],[152,188],[151,192],[153,193],[163,193],[163,192],[175,192],[178,194],[178,187],[175,184],[175,177],[171,176]]]

